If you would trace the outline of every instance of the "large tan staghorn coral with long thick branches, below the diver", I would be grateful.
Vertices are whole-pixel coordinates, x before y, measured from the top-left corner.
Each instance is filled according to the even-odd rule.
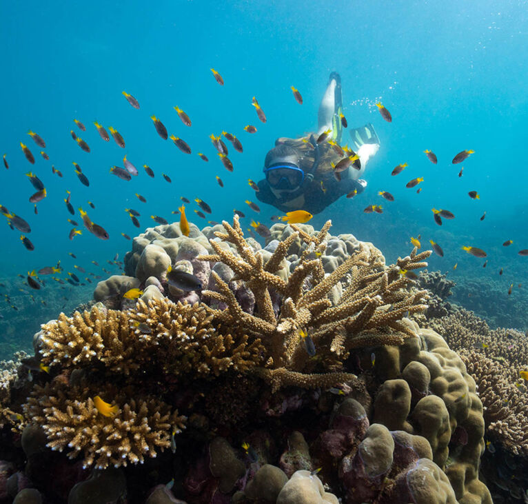
[[[314,236],[292,225],[294,230],[278,242],[274,252],[264,262],[263,254],[254,252],[243,237],[238,216],[233,225],[223,221],[225,232],[216,232],[222,242],[234,245],[238,255],[220,241],[210,239],[216,252],[199,256],[201,261],[223,262],[233,270],[232,281],[243,280],[254,294],[254,314],[244,312],[234,292],[219,274],[212,272],[216,290],[205,290],[203,296],[224,303],[227,310],[212,310],[216,319],[228,325],[243,327],[247,334],[262,339],[269,359],[267,367],[275,370],[285,368],[288,372],[306,370],[309,356],[301,343],[299,334],[307,331],[316,348],[318,358],[325,360],[325,367],[340,367],[354,347],[376,345],[400,345],[408,336],[414,336],[400,319],[408,314],[427,308],[425,291],[410,294],[405,290],[409,279],[400,275],[400,270],[423,268],[430,251],[398,259],[396,265],[385,268],[383,256],[374,247],[360,245],[359,250],[347,257],[330,274],[325,276],[319,257],[325,250],[325,236],[330,227],[325,223]],[[285,256],[296,241],[302,240],[305,248],[300,260],[287,279],[277,274],[283,268]],[[312,256],[315,256],[312,259]],[[350,272],[349,283],[338,301],[332,305],[328,294],[334,286]],[[307,288],[307,285],[310,288]],[[276,314],[272,299],[281,296],[281,306]],[[285,380],[288,373],[274,374],[274,387],[278,386],[277,376]],[[347,377],[348,378],[348,377]],[[347,379],[345,378],[345,379]],[[343,376],[335,376],[335,382]],[[328,385],[331,377],[321,375],[320,385]],[[303,380],[296,376],[287,383],[299,383],[305,387],[317,386],[314,374]]]

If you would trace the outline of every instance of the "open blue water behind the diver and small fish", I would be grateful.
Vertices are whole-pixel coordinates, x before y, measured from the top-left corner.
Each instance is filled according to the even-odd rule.
[[[67,8],[36,1],[4,3],[0,149],[7,154],[10,169],[0,165],[0,203],[30,222],[28,236],[35,250],[23,247],[19,232],[0,226],[0,277],[7,285],[2,289],[16,296],[19,306],[14,312],[0,301],[5,317],[0,328],[5,332],[7,325],[12,330],[23,324],[15,332],[26,344],[40,322],[56,316],[57,302],[48,303],[48,308],[39,305],[35,311],[37,304],[29,294],[37,302],[65,294],[69,309],[81,299],[88,301],[90,286],[82,295],[70,286],[57,294],[59,286],[48,281],[45,288],[30,293],[17,274],[60,259],[65,272],[75,271],[77,264],[108,276],[90,261],[103,265],[116,253],[122,257],[130,250],[131,243],[121,232],[134,236],[140,230],[125,208],[141,212],[141,231],[154,225],[151,214],[170,221],[180,196],[205,200],[216,221],[230,219],[233,208],[257,217],[244,203],[256,201],[247,179],[261,179],[263,158],[276,137],[316,129],[318,103],[332,70],[341,73],[349,125],[374,123],[382,145],[367,166],[367,190],[353,200],[343,197],[315,216],[312,224],[317,228],[332,219],[333,234],[352,232],[371,240],[390,261],[411,250],[409,236],[421,234],[423,245],[434,239],[445,251],[443,258],[431,258],[431,269],[449,271],[460,282],[475,277],[499,282],[506,300],[520,296],[517,286],[510,297],[507,289],[510,283],[523,282],[528,289],[528,257],[517,255],[528,248],[523,149],[528,141],[527,8],[526,1],[497,6],[489,0],[158,1],[148,6],[136,1],[72,1]],[[210,68],[221,73],[223,87]],[[294,100],[291,85],[303,94],[303,105]],[[139,100],[140,110],[128,104],[123,90]],[[253,96],[267,115],[265,124],[256,117]],[[392,123],[380,117],[374,106],[378,99],[392,112]],[[189,114],[191,128],[180,121],[174,105]],[[156,134],[152,114],[169,134],[189,143],[192,155]],[[82,121],[87,131],[81,132],[73,119]],[[125,149],[112,139],[101,140],[93,121],[107,130],[116,128]],[[256,125],[258,132],[247,134],[243,131],[247,124]],[[26,134],[30,129],[46,141],[50,161],[39,155],[41,149]],[[90,154],[71,139],[70,130],[88,142]],[[243,154],[230,152],[233,173],[223,168],[208,138],[222,130],[243,143]],[[21,141],[32,150],[34,166],[23,156]],[[425,149],[436,152],[438,165],[427,160]],[[458,178],[461,165],[452,165],[451,159],[465,149],[475,154],[462,164],[465,170]],[[204,152],[210,162],[201,161],[197,152]],[[130,182],[109,173],[112,165],[123,166],[125,154],[140,170]],[[77,179],[72,161],[90,179],[89,188]],[[392,168],[404,162],[407,169],[391,177]],[[62,179],[52,174],[52,164],[63,172]],[[155,179],[145,174],[143,164],[152,167]],[[34,190],[24,174],[30,170],[48,190],[38,215],[28,201]],[[171,184],[162,172],[172,178]],[[219,188],[216,175],[225,188]],[[420,194],[405,188],[415,177],[425,179]],[[109,232],[110,240],[101,241],[83,230],[82,236],[69,241],[66,190],[72,193],[74,208],[87,210],[92,221]],[[378,190],[392,192],[396,201],[381,199]],[[480,200],[469,199],[469,190],[477,190]],[[145,196],[146,205],[136,199],[136,192]],[[371,203],[382,203],[384,213],[364,214],[363,208]],[[279,212],[261,207],[258,221],[271,224],[270,216]],[[456,219],[438,228],[433,207],[451,210]],[[203,227],[206,222],[194,215],[194,208],[194,203],[187,205],[187,215]],[[484,211],[485,221],[480,221]],[[83,229],[78,212],[73,219]],[[0,222],[5,222],[3,217]],[[514,244],[503,248],[507,239]],[[485,249],[487,268],[460,250],[462,245]],[[453,271],[455,263],[458,268]],[[115,266],[106,267],[117,271]],[[499,278],[500,267],[505,274]]]

